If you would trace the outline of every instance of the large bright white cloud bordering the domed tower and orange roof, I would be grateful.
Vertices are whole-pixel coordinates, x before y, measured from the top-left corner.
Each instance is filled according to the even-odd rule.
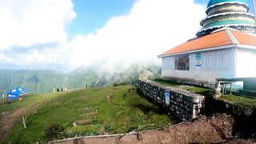
[[[129,15],[112,18],[96,33],[68,42],[70,62],[154,62],[158,54],[194,37],[204,16],[205,8],[193,0],[137,1]]]

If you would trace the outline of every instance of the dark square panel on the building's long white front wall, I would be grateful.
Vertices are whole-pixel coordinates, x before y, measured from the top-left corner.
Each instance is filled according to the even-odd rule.
[[[190,70],[190,57],[189,55],[182,55],[175,57],[175,70]]]

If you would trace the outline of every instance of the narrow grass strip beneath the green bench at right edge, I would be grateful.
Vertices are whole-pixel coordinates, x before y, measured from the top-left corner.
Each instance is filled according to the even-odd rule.
[[[234,103],[241,106],[249,106],[256,108],[256,98],[247,98],[245,96],[238,96],[234,94],[225,95],[219,98],[222,101]]]

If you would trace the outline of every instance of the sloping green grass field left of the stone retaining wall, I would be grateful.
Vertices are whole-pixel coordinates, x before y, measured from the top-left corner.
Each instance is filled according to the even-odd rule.
[[[4,104],[0,106],[1,113],[15,107],[27,110],[28,114],[27,128],[23,128],[19,118],[6,143],[44,142],[44,131],[53,123],[65,128],[66,137],[74,137],[126,133],[138,126],[154,124],[142,129],[150,130],[175,122],[134,90],[134,86],[92,88],[34,95],[23,102]],[[73,122],[78,126],[74,127]]]

